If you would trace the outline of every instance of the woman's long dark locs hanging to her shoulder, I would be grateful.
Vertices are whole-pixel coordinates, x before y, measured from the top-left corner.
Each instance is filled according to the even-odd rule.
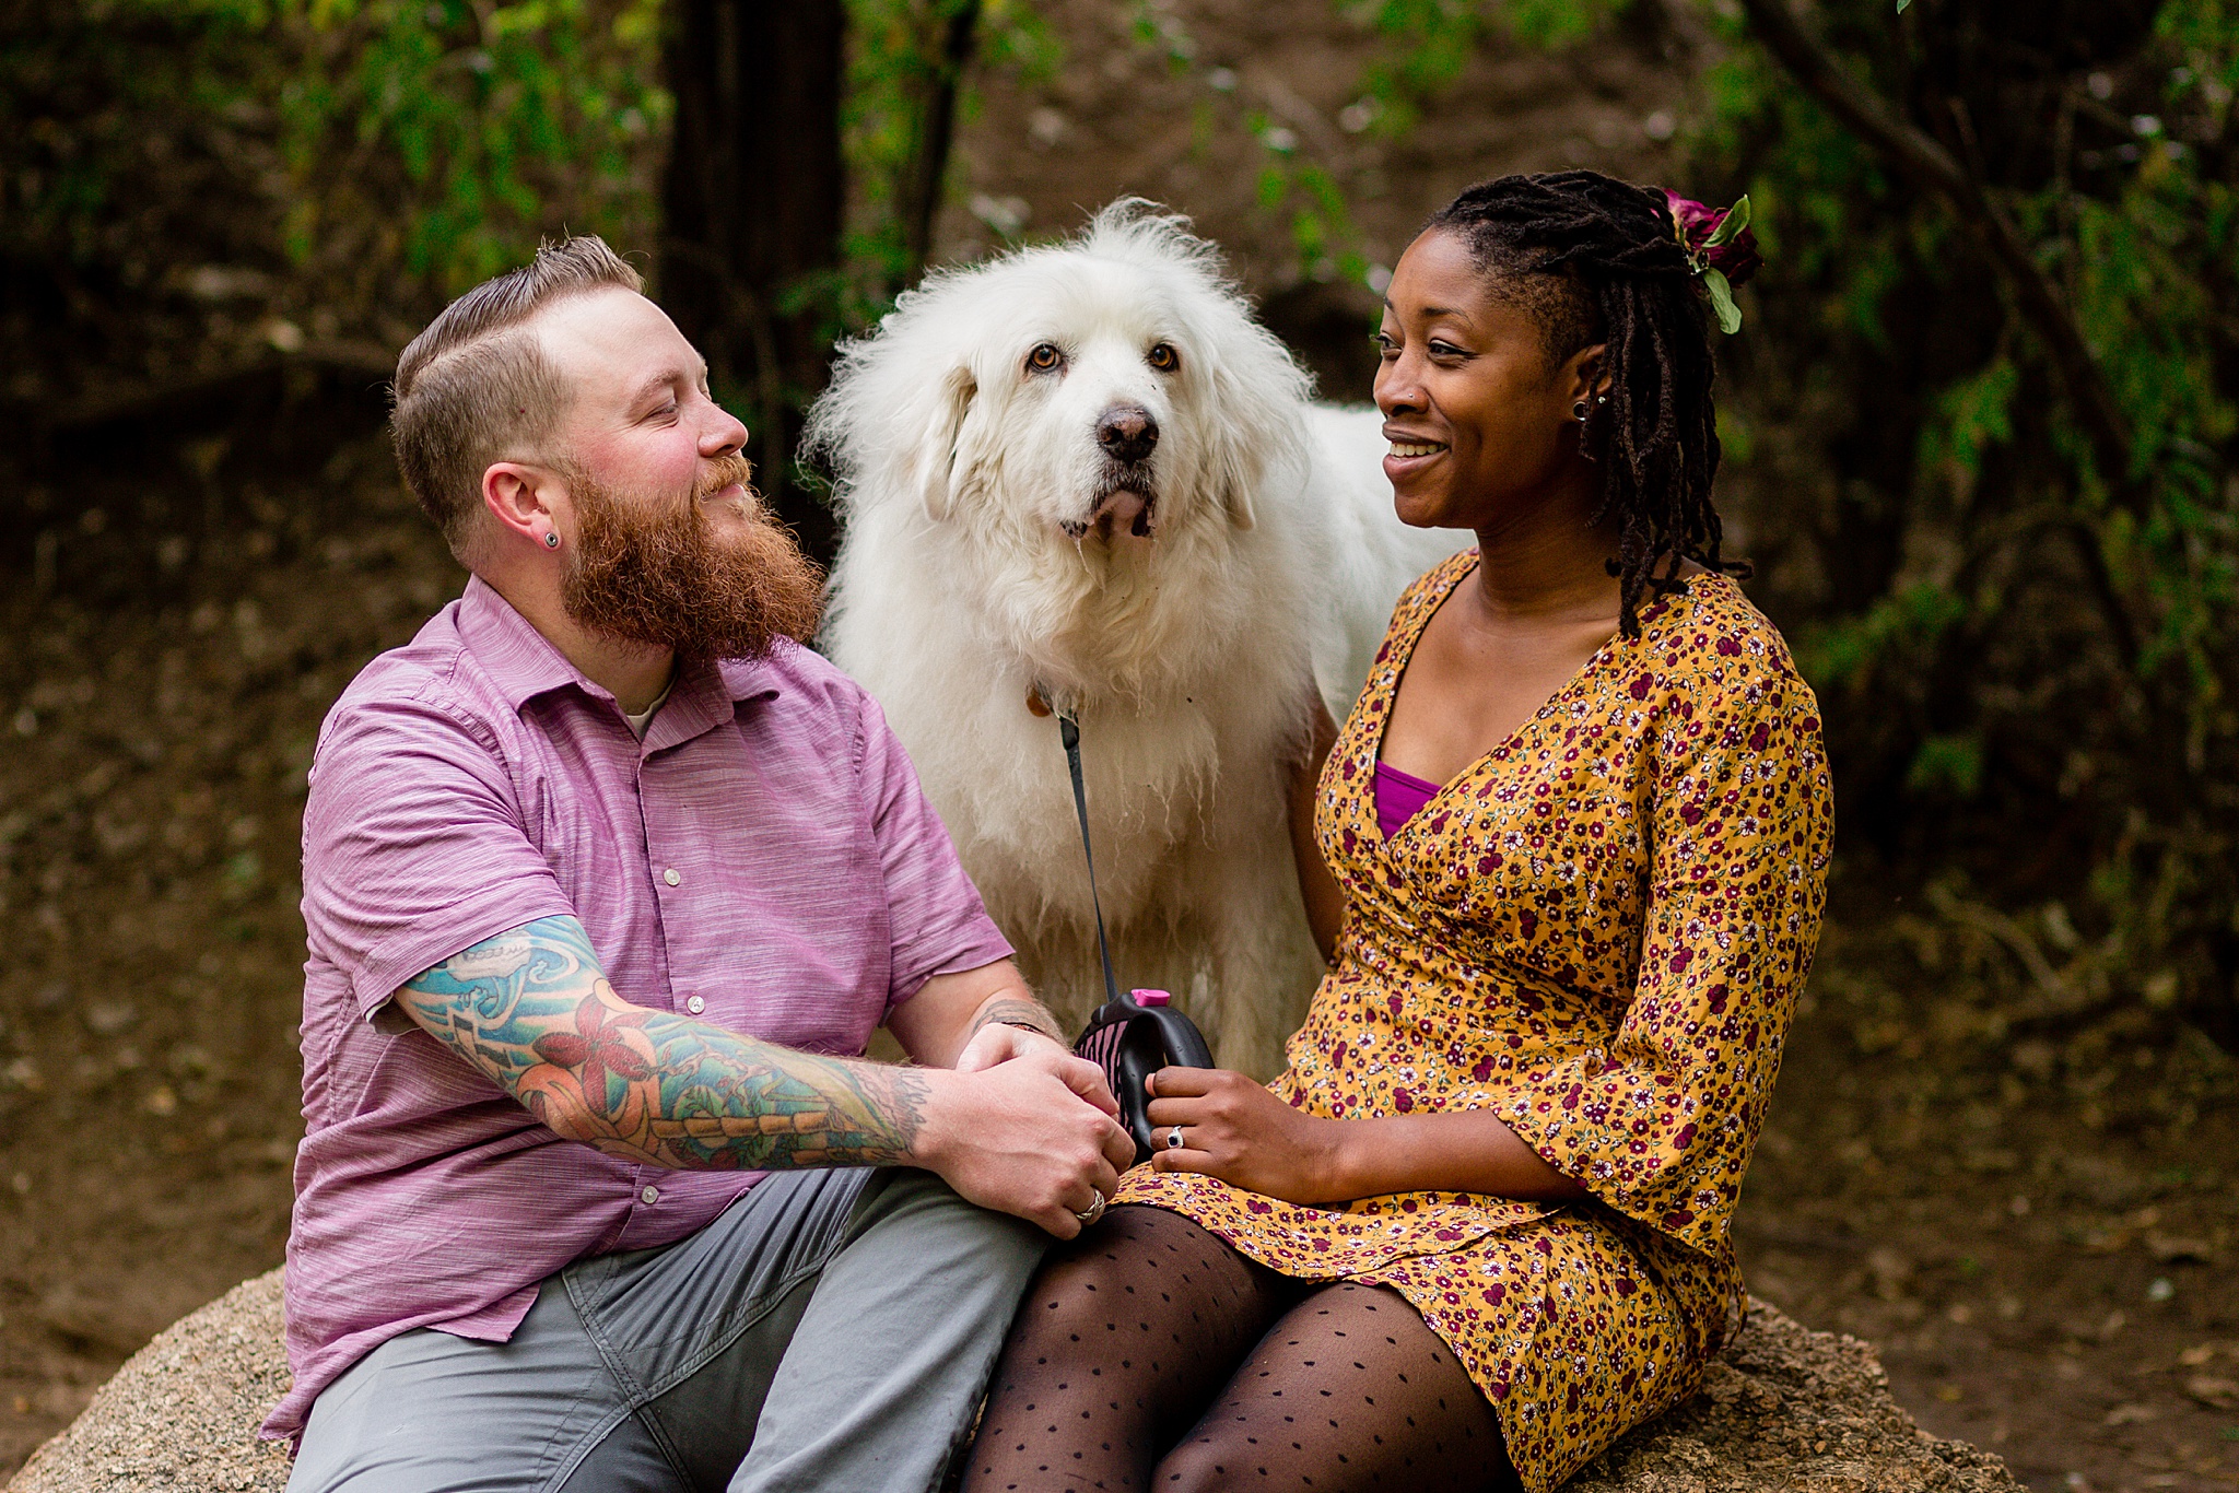
[[[1717,553],[1711,309],[1664,193],[1592,170],[1500,177],[1424,228],[1469,244],[1489,293],[1538,322],[1549,367],[1608,345],[1610,403],[1590,405],[1581,439],[1601,461],[1594,517],[1619,522],[1610,573],[1623,636],[1641,633],[1643,591],[1686,591],[1684,560],[1749,575],[1746,562]]]

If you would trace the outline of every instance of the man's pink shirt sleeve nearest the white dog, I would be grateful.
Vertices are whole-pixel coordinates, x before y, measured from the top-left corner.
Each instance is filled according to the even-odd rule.
[[[956,860],[947,826],[925,801],[909,752],[869,694],[862,696],[862,792],[878,839],[893,931],[887,1003],[900,1005],[936,974],[1010,958],[1012,947],[987,918],[978,889]]]

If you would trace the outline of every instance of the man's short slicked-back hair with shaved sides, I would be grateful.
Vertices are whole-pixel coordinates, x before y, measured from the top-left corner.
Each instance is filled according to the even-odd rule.
[[[596,235],[544,244],[528,264],[443,307],[396,358],[396,466],[461,562],[479,530],[481,475],[493,461],[540,452],[566,414],[566,383],[528,320],[602,287],[643,291],[645,278]]]

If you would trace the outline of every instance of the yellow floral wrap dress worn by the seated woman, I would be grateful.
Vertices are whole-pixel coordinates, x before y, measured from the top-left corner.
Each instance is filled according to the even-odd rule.
[[[1491,1110],[1592,1202],[1399,1193],[1310,1209],[1131,1171],[1285,1276],[1388,1285],[1554,1489],[1688,1395],[1740,1316],[1729,1218],[1818,942],[1834,828],[1818,703],[1724,575],[1612,638],[1386,844],[1399,674],[1476,569],[1417,580],[1319,786],[1337,963],[1270,1088],[1332,1119]]]

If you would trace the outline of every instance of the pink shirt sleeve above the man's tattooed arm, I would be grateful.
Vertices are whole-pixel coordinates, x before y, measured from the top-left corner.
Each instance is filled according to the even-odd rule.
[[[484,938],[573,913],[486,727],[432,698],[336,705],[302,815],[302,918],[360,1014]]]

